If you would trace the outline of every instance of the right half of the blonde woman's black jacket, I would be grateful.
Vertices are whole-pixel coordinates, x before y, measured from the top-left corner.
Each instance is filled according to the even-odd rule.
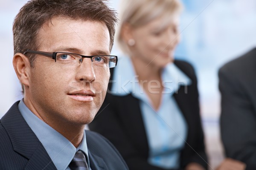
[[[178,93],[184,93],[183,91],[185,91],[184,95],[179,94],[180,99],[178,99],[178,95],[175,94],[177,100],[183,101],[180,102],[179,107],[180,110],[185,113],[184,116],[188,124],[188,136],[181,154],[181,167],[185,168],[189,163],[198,163],[207,169],[208,160],[205,152],[204,131],[199,109],[197,77],[194,68],[188,62],[177,61],[176,63],[192,81],[191,85],[180,87]],[[185,105],[184,103],[187,103],[188,105]]]

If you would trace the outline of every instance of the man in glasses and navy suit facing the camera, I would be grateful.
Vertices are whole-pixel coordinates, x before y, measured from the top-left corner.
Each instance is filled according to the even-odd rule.
[[[1,170],[127,170],[97,133],[117,62],[116,14],[103,0],[30,0],[14,25],[13,65],[24,98],[0,122]]]

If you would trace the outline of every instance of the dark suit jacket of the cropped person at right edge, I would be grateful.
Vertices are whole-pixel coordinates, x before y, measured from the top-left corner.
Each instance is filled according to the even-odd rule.
[[[226,156],[256,170],[256,48],[220,68],[219,89]]]

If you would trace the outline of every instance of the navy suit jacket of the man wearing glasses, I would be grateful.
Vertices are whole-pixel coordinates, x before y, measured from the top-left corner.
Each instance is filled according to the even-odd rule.
[[[0,120],[0,170],[57,170],[17,105]],[[90,131],[86,139],[92,170],[128,170],[107,139]]]

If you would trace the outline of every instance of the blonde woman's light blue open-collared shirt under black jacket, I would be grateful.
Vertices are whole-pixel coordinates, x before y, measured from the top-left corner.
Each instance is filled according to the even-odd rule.
[[[180,85],[189,85],[191,80],[175,64],[168,64],[162,72],[162,102],[159,110],[155,111],[137,78],[131,59],[120,58],[111,80],[111,94],[132,94],[140,100],[149,146],[148,163],[166,169],[179,168],[180,150],[184,147],[188,130],[173,94],[178,91]]]

